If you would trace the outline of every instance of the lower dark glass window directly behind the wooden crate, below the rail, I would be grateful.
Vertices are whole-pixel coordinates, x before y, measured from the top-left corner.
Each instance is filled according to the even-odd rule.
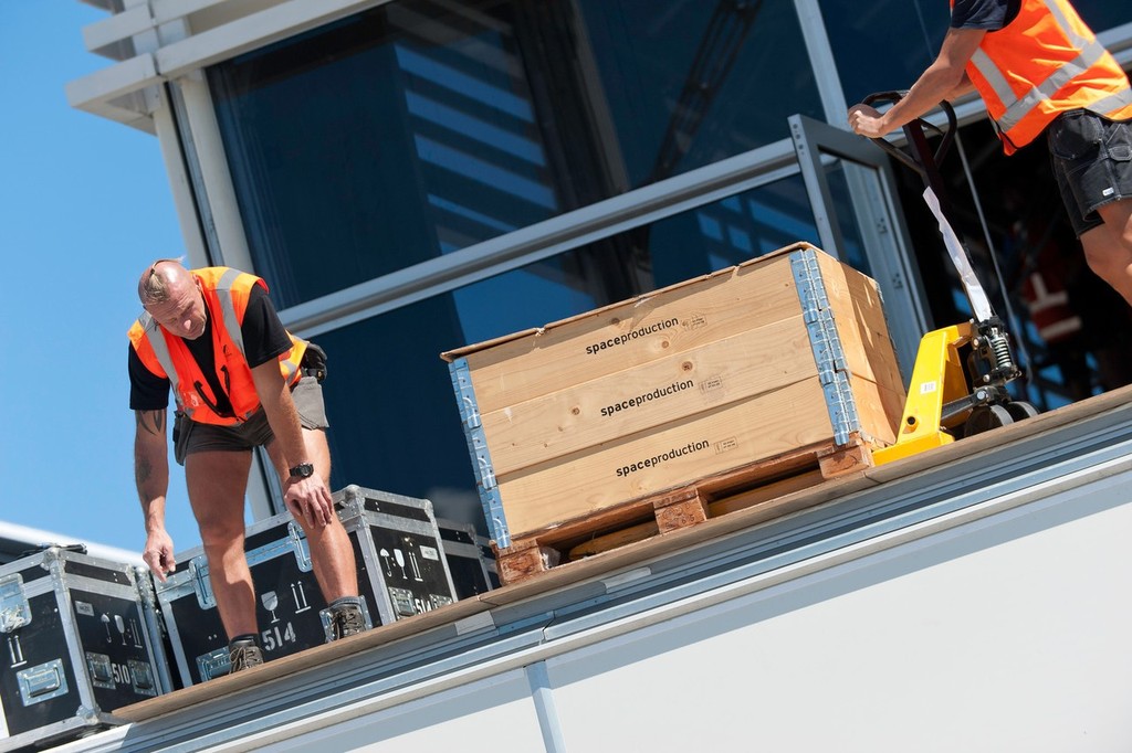
[[[312,338],[328,354],[332,486],[427,497],[483,528],[440,353],[629,297],[609,278],[652,289],[816,239],[796,175]],[[618,276],[610,256],[638,261]]]

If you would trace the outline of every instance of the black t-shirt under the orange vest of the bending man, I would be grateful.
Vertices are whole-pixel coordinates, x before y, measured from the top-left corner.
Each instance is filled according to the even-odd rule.
[[[204,335],[195,340],[185,340],[186,347],[192,354],[192,358],[200,366],[208,387],[216,396],[217,409],[223,413],[231,413],[232,404],[228,399],[228,390],[218,374],[213,356],[213,312],[208,312],[208,321],[205,322]],[[248,365],[256,366],[267,363],[273,358],[278,358],[282,354],[291,349],[291,338],[280,321],[272,300],[267,297],[267,291],[263,285],[255,285],[248,296],[248,310],[243,315],[243,324],[240,326],[243,335],[243,352]],[[138,357],[134,344],[129,346],[129,372],[130,372],[130,410],[160,410],[169,406],[169,380],[157,376],[145,367],[142,358]]]

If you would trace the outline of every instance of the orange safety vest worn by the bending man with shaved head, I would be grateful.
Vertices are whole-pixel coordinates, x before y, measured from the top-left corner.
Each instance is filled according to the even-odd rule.
[[[212,321],[216,374],[226,386],[234,415],[221,416],[216,413],[216,396],[185,340],[166,332],[148,312],[130,327],[130,343],[146,369],[169,379],[178,409],[189,418],[217,426],[240,424],[259,410],[260,405],[251,369],[245,357],[240,326],[248,311],[251,288],[263,285],[266,291],[267,283],[229,267],[206,267],[194,269],[190,274],[200,283]],[[280,371],[290,384],[301,378],[299,364],[307,343],[290,332],[288,335],[291,337],[291,349],[280,356]]]

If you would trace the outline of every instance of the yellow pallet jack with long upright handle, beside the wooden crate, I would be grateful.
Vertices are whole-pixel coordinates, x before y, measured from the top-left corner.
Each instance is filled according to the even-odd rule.
[[[865,98],[865,104],[894,104],[904,94],[873,94]],[[974,318],[927,332],[920,339],[895,443],[873,452],[876,465],[942,447],[1038,413],[1029,403],[1013,400],[1006,389],[1006,384],[1019,378],[1022,371],[1011,355],[1006,328],[990,308],[967,248],[947,218],[951,206],[943,191],[938,164],[954,140],[957,120],[947,102],[940,103],[940,106],[947,118],[946,128],[938,128],[923,119],[903,127],[910,153],[883,138],[873,141],[924,179],[924,200],[940,223],[940,233],[971,303]],[[935,150],[928,144],[925,128],[942,137]]]

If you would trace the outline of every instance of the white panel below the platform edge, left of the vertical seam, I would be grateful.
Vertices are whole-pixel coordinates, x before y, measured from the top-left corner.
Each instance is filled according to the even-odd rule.
[[[335,717],[340,717],[338,712]],[[302,722],[299,722],[302,724]],[[280,729],[271,742],[248,741],[260,751],[488,751],[544,750],[526,675],[511,670],[368,713],[308,734]]]

